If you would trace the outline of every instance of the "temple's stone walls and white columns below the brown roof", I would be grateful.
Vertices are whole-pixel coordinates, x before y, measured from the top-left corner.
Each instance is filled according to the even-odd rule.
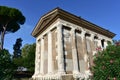
[[[58,19],[37,37],[34,75],[37,80],[58,79],[65,75],[87,79],[89,68],[93,65],[93,56],[97,53],[96,48],[105,49],[107,41],[112,40]]]

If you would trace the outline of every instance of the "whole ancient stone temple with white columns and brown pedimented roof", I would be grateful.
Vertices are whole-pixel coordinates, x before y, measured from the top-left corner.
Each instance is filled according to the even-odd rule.
[[[105,49],[115,36],[60,8],[43,15],[32,35],[36,38],[34,80],[89,78],[96,49]]]

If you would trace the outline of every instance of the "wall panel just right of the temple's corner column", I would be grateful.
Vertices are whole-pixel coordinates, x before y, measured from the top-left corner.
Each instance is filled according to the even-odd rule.
[[[67,74],[73,71],[71,33],[69,28],[63,27],[64,61]]]

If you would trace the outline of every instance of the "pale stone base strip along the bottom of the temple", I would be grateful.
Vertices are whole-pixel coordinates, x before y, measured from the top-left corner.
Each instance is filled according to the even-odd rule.
[[[33,77],[32,77],[33,78]],[[46,74],[38,75],[33,78],[33,80],[88,80],[89,75],[86,73],[78,74]]]

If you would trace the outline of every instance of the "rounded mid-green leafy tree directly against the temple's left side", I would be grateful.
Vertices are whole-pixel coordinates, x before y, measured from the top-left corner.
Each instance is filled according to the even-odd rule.
[[[26,67],[29,71],[34,72],[35,66],[35,43],[26,44],[22,48],[22,58],[23,66]]]

